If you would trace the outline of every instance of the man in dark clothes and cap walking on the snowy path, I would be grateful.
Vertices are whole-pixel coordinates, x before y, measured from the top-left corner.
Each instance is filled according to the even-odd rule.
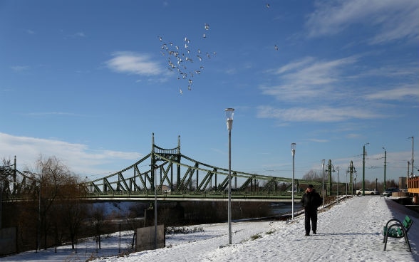
[[[306,236],[310,236],[310,221],[313,234],[317,234],[317,208],[321,205],[323,199],[320,197],[312,184],[309,184],[306,192],[301,198],[301,206],[304,206],[304,222],[306,228]]]

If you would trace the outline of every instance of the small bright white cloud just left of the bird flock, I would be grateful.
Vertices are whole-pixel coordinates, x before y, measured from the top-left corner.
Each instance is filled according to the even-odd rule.
[[[160,66],[150,56],[128,51],[113,53],[113,58],[105,62],[106,66],[118,73],[135,75],[159,75]]]

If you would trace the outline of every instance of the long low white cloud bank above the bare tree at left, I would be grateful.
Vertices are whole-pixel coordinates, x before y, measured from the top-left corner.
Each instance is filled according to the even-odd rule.
[[[76,174],[98,174],[119,170],[98,169],[99,166],[137,160],[143,157],[138,152],[90,150],[87,145],[73,144],[53,139],[18,137],[0,132],[0,157],[12,159],[16,155],[18,169],[31,167],[41,155],[61,159]],[[120,167],[122,169],[124,167]]]

